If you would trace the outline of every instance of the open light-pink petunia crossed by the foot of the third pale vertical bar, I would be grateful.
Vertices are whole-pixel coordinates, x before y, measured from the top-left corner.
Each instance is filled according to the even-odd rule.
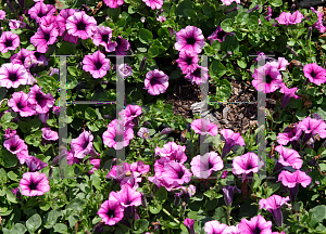
[[[222,158],[215,152],[210,152],[203,156],[197,155],[192,158],[191,171],[197,178],[208,179],[213,171],[222,170],[224,165]]]

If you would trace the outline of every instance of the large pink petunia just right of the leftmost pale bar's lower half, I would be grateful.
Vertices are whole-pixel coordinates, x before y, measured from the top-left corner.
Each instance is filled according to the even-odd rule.
[[[71,147],[75,153],[76,158],[84,158],[87,154],[93,153],[92,147],[93,135],[89,131],[83,131],[78,138],[73,139],[71,142]]]

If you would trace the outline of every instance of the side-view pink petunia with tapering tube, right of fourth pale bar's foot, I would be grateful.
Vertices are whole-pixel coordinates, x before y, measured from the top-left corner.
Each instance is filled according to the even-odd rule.
[[[301,170],[296,170],[293,173],[284,170],[278,174],[277,181],[281,181],[284,186],[289,187],[291,202],[294,202],[299,191],[299,184],[306,187],[311,183],[311,178]]]

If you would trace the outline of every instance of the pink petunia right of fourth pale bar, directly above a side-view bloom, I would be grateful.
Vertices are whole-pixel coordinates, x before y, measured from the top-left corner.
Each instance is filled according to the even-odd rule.
[[[297,151],[292,148],[286,148],[283,145],[277,145],[275,151],[279,153],[278,162],[285,167],[291,166],[294,169],[302,167],[302,159]]]

